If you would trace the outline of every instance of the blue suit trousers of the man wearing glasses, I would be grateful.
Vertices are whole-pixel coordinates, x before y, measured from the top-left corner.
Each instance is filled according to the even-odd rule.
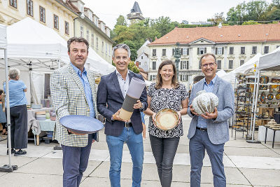
[[[190,139],[190,186],[199,187],[201,169],[205,148],[210,158],[212,173],[214,175],[214,186],[225,187],[225,171],[223,167],[223,147],[225,144],[212,144],[207,131],[196,130]]]

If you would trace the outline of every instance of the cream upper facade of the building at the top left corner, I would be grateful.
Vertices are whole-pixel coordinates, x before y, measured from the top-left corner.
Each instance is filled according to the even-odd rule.
[[[40,21],[40,9],[45,8],[45,22]],[[58,16],[59,27],[54,27],[54,14]],[[58,1],[51,0],[34,0],[33,1],[33,16],[27,14],[27,1],[17,0],[17,8],[10,6],[10,1],[0,0],[0,23],[3,25],[13,25],[24,18],[32,18],[41,24],[54,29],[64,39],[69,39],[73,36],[73,19],[78,15],[70,11]],[[69,34],[65,33],[65,22],[69,23]]]

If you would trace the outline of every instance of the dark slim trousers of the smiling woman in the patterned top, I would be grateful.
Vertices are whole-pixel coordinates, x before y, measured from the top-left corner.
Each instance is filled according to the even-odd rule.
[[[173,161],[180,137],[158,138],[150,134],[151,147],[158,167],[160,183],[164,187],[171,186]]]

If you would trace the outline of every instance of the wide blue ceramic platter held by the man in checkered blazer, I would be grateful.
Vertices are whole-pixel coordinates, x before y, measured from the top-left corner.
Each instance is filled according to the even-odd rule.
[[[59,121],[66,129],[79,134],[92,134],[104,127],[101,121],[88,116],[64,116]]]

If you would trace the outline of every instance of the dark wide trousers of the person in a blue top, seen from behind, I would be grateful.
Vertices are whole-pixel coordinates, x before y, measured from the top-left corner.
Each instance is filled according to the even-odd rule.
[[[6,110],[7,115],[7,110]],[[10,142],[11,148],[27,148],[27,106],[10,108]],[[8,141],[7,141],[8,147]]]

